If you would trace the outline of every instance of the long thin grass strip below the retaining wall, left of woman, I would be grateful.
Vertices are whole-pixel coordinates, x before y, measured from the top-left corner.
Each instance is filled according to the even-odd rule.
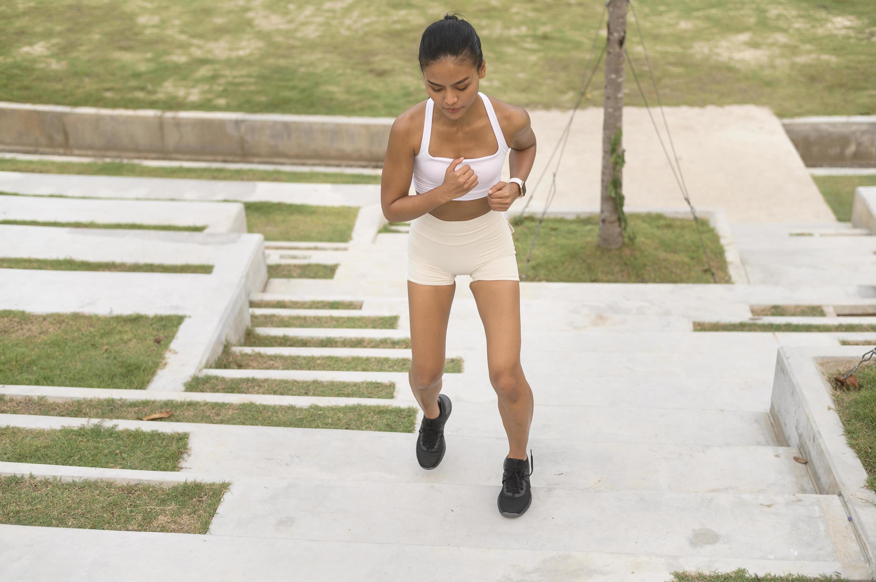
[[[182,178],[319,184],[379,184],[379,174],[343,172],[287,172],[286,170],[189,168],[152,166],[131,162],[56,162],[51,160],[0,158],[0,172],[130,176],[133,178]]]

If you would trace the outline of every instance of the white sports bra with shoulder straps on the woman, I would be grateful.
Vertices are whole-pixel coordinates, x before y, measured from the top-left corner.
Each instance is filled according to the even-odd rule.
[[[471,169],[477,174],[477,186],[472,188],[470,192],[453,200],[484,198],[487,195],[487,190],[501,179],[502,167],[505,165],[505,154],[510,149],[508,144],[505,143],[505,136],[502,135],[502,128],[498,125],[496,111],[492,107],[490,98],[480,91],[477,92],[477,95],[480,95],[484,101],[484,107],[487,109],[487,116],[490,118],[493,133],[496,134],[498,151],[491,156],[484,156],[484,158],[464,158],[456,166],[459,168],[462,165],[470,165]],[[447,166],[453,161],[453,158],[433,158],[429,155],[433,109],[434,101],[429,97],[429,100],[426,102],[426,118],[423,120],[423,139],[420,142],[420,151],[413,158],[413,189],[419,194],[427,193],[429,190],[441,186],[444,182],[444,173],[447,172]]]

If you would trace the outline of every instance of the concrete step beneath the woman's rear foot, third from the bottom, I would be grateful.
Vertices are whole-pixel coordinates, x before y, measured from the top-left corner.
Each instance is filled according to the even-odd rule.
[[[88,479],[121,475],[132,480],[175,483],[237,476],[321,480],[369,480],[495,486],[501,482],[504,437],[454,437],[434,471],[424,471],[413,447],[416,435],[398,432],[296,429],[272,426],[112,421],[119,428],[185,431],[190,454],[179,472],[124,471],[81,467]],[[24,417],[15,425],[46,428],[79,425],[68,419]],[[640,443],[531,442],[533,458],[548,470],[533,474],[537,487],[576,490],[675,491],[706,493],[814,494],[795,448]],[[363,454],[368,451],[368,454]],[[74,467],[0,463],[0,474],[69,474]]]

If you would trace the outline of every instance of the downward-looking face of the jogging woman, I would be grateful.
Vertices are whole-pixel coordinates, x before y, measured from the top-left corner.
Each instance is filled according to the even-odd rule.
[[[459,119],[477,99],[486,67],[485,60],[479,69],[472,67],[469,60],[439,60],[423,69],[423,83],[435,106],[450,119]]]

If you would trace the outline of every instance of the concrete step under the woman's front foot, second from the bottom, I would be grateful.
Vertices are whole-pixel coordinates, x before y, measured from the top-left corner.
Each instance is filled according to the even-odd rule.
[[[533,486],[532,506],[512,526],[496,509],[498,489],[498,484],[241,478],[232,483],[210,533],[357,543],[428,539],[438,546],[512,550],[864,561],[836,495]]]

